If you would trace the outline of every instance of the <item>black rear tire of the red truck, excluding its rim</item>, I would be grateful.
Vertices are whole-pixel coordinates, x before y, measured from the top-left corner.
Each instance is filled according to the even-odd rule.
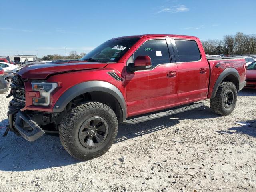
[[[232,92],[233,94],[233,102],[229,108],[225,107],[225,96],[227,92]],[[237,100],[237,90],[236,86],[232,82],[222,82],[217,90],[216,96],[210,99],[210,107],[211,109],[219,115],[228,115],[230,114],[235,106]]]

